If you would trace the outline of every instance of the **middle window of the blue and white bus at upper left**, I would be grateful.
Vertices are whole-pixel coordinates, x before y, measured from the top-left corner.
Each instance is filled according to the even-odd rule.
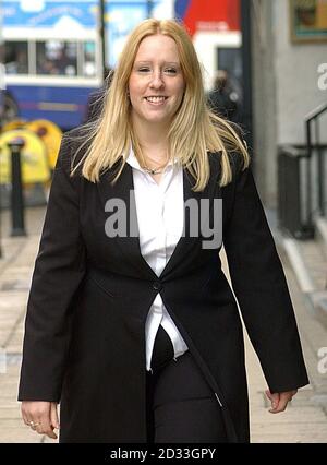
[[[36,57],[37,74],[76,75],[77,44],[75,41],[38,41]]]

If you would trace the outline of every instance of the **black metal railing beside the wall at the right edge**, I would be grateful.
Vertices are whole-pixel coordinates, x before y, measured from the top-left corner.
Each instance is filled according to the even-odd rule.
[[[326,215],[327,144],[320,140],[320,117],[325,112],[327,104],[305,117],[305,144],[279,147],[279,226],[298,239],[312,238],[315,216]]]

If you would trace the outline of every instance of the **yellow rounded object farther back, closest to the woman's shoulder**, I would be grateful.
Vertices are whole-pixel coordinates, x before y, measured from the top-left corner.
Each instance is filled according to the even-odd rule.
[[[55,169],[62,139],[61,129],[55,122],[46,119],[31,121],[26,124],[26,128],[35,132],[44,141],[50,168]]]

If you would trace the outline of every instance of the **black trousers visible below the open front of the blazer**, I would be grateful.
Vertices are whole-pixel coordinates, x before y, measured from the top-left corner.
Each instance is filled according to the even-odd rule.
[[[221,408],[191,353],[173,359],[160,325],[147,372],[148,443],[227,442]]]

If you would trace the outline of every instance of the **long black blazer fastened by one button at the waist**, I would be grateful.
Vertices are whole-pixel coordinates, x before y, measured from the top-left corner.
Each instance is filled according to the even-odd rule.
[[[242,325],[219,250],[185,235],[160,277],[137,237],[108,238],[107,200],[130,208],[132,168],[114,186],[69,176],[76,143],[63,139],[27,306],[19,398],[61,402],[62,442],[146,442],[145,320],[157,293],[216,393],[229,441],[249,441]],[[307,384],[294,313],[251,168],[231,155],[233,181],[210,179],[184,200],[222,199],[223,245],[233,290],[272,392]],[[132,200],[131,200],[132,201]],[[133,202],[133,201],[132,201]],[[133,205],[132,205],[133,206]],[[135,207],[135,205],[134,205]],[[213,210],[210,211],[211,218]]]

